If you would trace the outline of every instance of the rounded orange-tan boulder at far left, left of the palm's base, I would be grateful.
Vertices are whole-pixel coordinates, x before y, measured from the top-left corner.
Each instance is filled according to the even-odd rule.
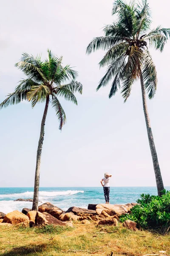
[[[3,218],[3,222],[16,225],[20,222],[29,222],[28,216],[19,211],[9,212]]]

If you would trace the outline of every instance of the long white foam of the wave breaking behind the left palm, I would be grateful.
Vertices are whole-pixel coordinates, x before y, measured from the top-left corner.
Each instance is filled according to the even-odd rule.
[[[39,196],[40,198],[47,197],[51,198],[57,195],[75,195],[77,193],[84,193],[82,190],[67,190],[67,191],[54,191],[54,192],[48,192],[48,191],[40,191]],[[18,193],[18,194],[8,194],[8,195],[0,195],[0,198],[32,198],[34,195],[34,192],[24,192],[24,193]]]

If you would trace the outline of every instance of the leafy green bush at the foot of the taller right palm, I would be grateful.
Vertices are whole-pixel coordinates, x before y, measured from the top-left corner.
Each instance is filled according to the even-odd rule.
[[[120,221],[135,221],[139,227],[170,231],[170,191],[164,189],[163,195],[141,195],[130,214],[122,215]]]

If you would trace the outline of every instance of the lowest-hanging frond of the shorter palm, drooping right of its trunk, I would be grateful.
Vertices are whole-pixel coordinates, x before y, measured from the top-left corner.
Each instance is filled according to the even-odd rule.
[[[62,130],[62,126],[65,125],[65,122],[66,122],[65,112],[61,104],[59,103],[59,100],[57,99],[57,97],[55,95],[52,95],[52,96],[53,96],[53,99],[51,99],[51,105],[52,105],[52,108],[54,108],[54,110],[56,111],[56,115],[59,120],[59,130]]]

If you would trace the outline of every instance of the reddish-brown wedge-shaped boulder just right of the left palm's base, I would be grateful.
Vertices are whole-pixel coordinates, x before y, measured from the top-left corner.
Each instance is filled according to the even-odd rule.
[[[59,221],[57,218],[53,217],[47,212],[37,212],[35,217],[35,224],[37,225],[59,225],[65,226],[66,224],[62,221]]]

